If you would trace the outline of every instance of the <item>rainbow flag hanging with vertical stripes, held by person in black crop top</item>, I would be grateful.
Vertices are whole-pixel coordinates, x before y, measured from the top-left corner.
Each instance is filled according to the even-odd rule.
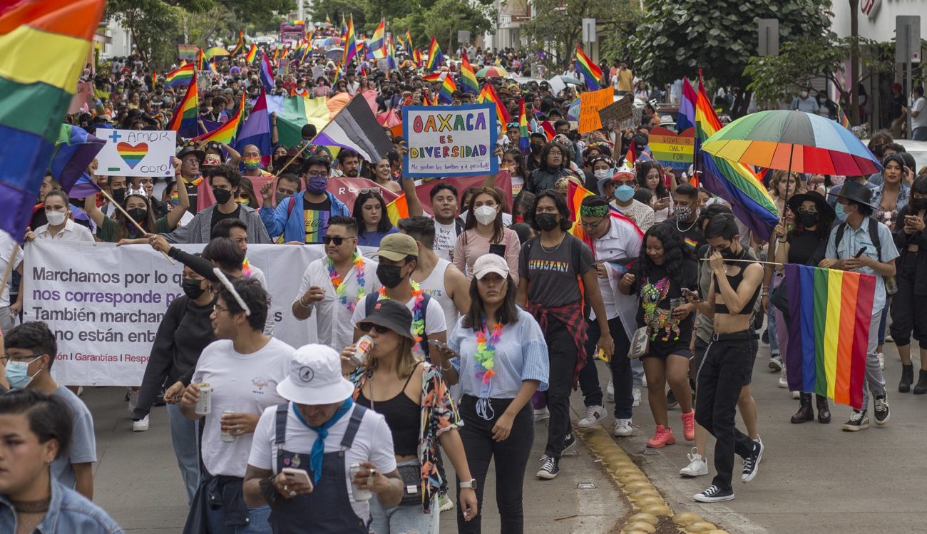
[[[785,264],[790,389],[863,408],[875,282],[872,274]]]

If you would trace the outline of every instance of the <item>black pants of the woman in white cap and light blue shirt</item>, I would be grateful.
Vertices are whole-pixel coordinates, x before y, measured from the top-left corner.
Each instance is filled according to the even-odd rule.
[[[502,523],[501,531],[506,534],[521,534],[525,529],[525,513],[522,509],[522,490],[525,482],[525,469],[531,444],[534,442],[534,411],[531,403],[515,416],[512,432],[508,439],[492,439],[492,426],[505,413],[513,399],[492,399],[495,416],[487,421],[476,414],[476,398],[464,395],[460,404],[464,426],[460,429],[464,442],[466,463],[470,473],[476,478],[476,502],[479,512],[470,521],[464,521],[464,512],[457,506],[457,531],[461,534],[480,532],[483,514],[483,483],[489,471],[489,462],[496,465],[496,506]],[[460,477],[457,477],[457,502],[460,502]],[[434,512],[433,512],[434,513]]]

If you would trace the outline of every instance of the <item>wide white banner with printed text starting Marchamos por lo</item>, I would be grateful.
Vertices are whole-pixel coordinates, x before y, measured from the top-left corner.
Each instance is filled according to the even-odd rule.
[[[204,245],[180,245],[198,252]],[[375,248],[362,248],[362,253]],[[273,337],[293,347],[315,342],[315,319],[290,312],[299,280],[324,246],[249,245],[248,261],[264,272]],[[146,245],[116,247],[37,239],[25,249],[26,321],[44,321],[57,338],[52,372],[70,386],[138,386],[151,345],[173,299],[183,295],[183,265]]]

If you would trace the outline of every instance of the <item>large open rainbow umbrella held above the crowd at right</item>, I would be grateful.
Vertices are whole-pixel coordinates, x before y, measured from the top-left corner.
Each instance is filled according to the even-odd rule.
[[[718,158],[789,172],[868,176],[882,170],[879,159],[839,122],[804,111],[751,113],[718,130],[702,149]]]

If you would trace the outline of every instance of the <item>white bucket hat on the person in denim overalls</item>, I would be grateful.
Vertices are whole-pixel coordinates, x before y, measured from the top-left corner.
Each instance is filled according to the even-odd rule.
[[[335,404],[354,394],[354,385],[341,375],[341,358],[325,345],[303,345],[290,361],[289,374],[277,393],[297,404]]]

